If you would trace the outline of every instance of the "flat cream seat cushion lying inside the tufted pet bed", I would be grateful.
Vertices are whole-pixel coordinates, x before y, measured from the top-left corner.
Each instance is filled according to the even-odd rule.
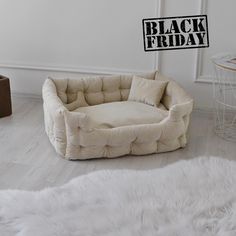
[[[144,103],[123,101],[80,107],[74,112],[85,113],[92,128],[116,128],[128,125],[159,123],[168,111]]]

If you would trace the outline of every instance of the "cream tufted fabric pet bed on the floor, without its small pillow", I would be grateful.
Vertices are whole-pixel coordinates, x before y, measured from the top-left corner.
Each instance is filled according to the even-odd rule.
[[[127,101],[132,75],[47,79],[43,85],[45,129],[56,151],[75,160],[184,147],[192,98],[159,72],[142,78],[167,82],[158,107]]]

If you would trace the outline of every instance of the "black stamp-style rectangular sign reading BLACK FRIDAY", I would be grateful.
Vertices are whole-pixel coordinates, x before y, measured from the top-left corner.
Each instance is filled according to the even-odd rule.
[[[144,50],[209,47],[206,15],[143,19]]]

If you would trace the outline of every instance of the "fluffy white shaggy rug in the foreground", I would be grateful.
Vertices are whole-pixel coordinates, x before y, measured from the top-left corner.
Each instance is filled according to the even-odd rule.
[[[236,162],[197,158],[0,191],[0,235],[235,236]]]

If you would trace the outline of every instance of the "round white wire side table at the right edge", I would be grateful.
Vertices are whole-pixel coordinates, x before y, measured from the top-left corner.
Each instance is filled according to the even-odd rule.
[[[215,69],[215,133],[236,142],[236,54],[216,55],[212,62]]]

